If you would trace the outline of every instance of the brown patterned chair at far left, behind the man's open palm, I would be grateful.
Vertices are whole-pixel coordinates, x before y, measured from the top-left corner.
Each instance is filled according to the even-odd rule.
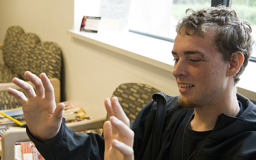
[[[56,101],[60,101],[60,77],[62,53],[60,47],[54,43],[40,41],[34,33],[25,33],[19,26],[7,29],[3,50],[4,64],[0,64],[0,109],[19,107],[20,103],[5,92],[7,87],[14,87],[12,78],[27,80],[25,71],[31,71],[39,76],[45,72],[56,90]]]

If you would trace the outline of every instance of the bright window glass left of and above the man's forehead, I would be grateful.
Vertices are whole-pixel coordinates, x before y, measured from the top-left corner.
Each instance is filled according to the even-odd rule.
[[[211,0],[132,0],[129,29],[174,39],[187,8],[211,6]]]

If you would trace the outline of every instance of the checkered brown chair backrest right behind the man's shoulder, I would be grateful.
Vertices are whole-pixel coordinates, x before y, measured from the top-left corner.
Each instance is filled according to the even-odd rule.
[[[158,89],[141,83],[124,83],[119,85],[112,96],[118,97],[123,111],[130,121],[134,121],[146,104],[152,101],[152,95],[160,92]]]

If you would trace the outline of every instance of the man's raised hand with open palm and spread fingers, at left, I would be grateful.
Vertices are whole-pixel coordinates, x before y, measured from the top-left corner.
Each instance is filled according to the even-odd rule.
[[[54,89],[45,73],[41,73],[40,78],[29,71],[24,75],[35,86],[35,91],[32,85],[15,77],[12,82],[23,89],[27,97],[16,89],[7,88],[7,92],[22,104],[31,134],[40,141],[50,140],[60,129],[64,104],[56,107]]]

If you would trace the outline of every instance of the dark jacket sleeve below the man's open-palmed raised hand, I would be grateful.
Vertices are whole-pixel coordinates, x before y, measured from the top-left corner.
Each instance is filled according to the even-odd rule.
[[[104,159],[103,137],[96,133],[76,133],[65,125],[65,119],[62,120],[58,134],[45,143],[35,139],[28,128],[26,130],[28,137],[46,160]]]

